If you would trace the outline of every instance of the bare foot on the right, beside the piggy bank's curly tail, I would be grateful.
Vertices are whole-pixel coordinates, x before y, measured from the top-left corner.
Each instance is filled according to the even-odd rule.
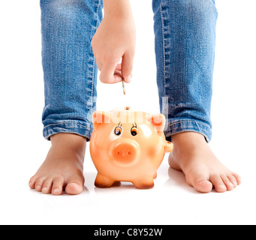
[[[218,193],[223,193],[241,184],[239,175],[215,157],[200,133],[178,133],[172,136],[172,142],[170,166],[184,172],[188,184],[198,192],[209,193],[215,187]]]

